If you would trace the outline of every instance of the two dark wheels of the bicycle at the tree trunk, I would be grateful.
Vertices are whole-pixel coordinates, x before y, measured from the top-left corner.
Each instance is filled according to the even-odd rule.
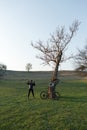
[[[49,98],[49,93],[46,92],[46,91],[41,91],[41,93],[40,93],[40,98],[41,98],[41,99],[47,99],[47,98]],[[59,98],[60,98],[59,92],[54,91],[54,92],[52,93],[52,99],[58,100]]]

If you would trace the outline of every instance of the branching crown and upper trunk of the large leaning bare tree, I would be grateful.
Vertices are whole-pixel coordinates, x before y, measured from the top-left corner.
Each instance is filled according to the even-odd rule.
[[[44,64],[53,63],[53,80],[58,78],[58,69],[60,63],[71,57],[66,57],[65,52],[68,44],[78,30],[79,24],[80,23],[78,20],[74,21],[69,27],[69,33],[65,32],[64,26],[58,27],[55,33],[51,34],[50,38],[45,43],[41,40],[37,41],[36,44],[31,42],[31,45],[42,53],[42,55],[37,56],[37,58],[43,60]]]

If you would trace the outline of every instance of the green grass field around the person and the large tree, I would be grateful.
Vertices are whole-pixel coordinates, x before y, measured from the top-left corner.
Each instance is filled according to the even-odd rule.
[[[87,80],[63,77],[56,88],[61,98],[42,100],[50,74],[33,72],[35,99],[28,100],[28,77],[22,76],[0,80],[0,130],[87,130]]]

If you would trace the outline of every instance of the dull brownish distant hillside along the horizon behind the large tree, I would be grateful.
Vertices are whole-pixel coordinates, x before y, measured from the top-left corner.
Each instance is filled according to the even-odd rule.
[[[52,71],[10,71],[7,70],[4,79],[26,80],[26,79],[51,79]],[[59,78],[61,79],[80,79],[86,77],[86,72],[76,71],[59,71]]]

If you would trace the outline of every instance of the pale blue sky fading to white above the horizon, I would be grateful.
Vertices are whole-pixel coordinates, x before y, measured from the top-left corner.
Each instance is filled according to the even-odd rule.
[[[81,22],[79,30],[66,52],[75,54],[87,41],[87,0],[0,0],[0,63],[7,70],[25,71],[32,64],[32,71],[50,71],[36,58],[40,54],[31,41],[46,41],[59,26],[68,27],[73,21]],[[73,70],[73,61],[60,65],[60,70]]]

